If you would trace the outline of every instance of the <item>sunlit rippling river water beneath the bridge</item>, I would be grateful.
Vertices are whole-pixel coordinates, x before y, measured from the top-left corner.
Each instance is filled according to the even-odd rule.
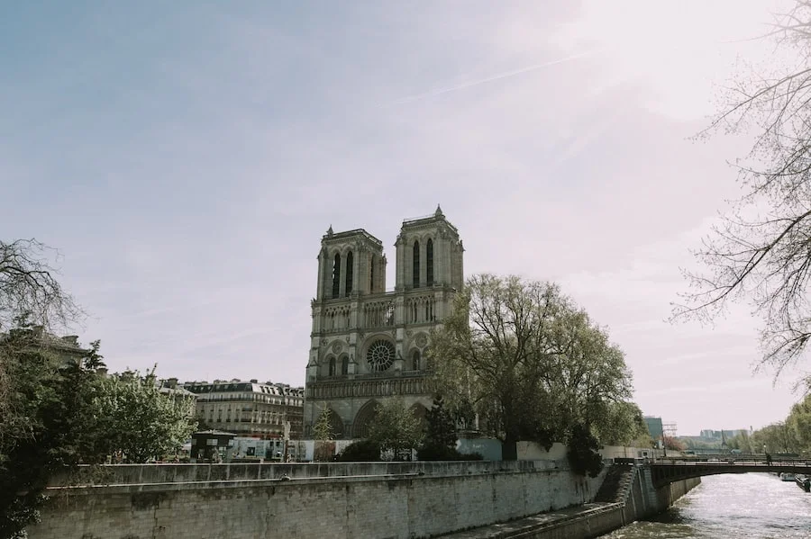
[[[811,493],[776,475],[743,473],[701,478],[668,510],[603,539],[811,538]]]

